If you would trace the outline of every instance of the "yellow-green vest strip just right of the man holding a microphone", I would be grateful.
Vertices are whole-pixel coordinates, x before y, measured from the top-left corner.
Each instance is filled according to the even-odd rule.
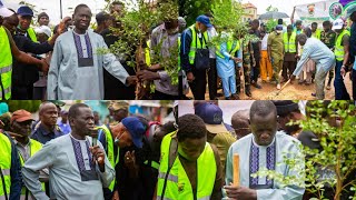
[[[110,130],[108,129],[108,127],[106,124],[102,124],[100,127],[98,127],[98,129],[101,129],[103,132],[105,132],[105,137],[106,137],[106,140],[107,140],[107,148],[108,148],[108,160],[111,164],[112,168],[116,167],[117,163],[119,163],[119,152],[120,152],[120,148],[118,148],[118,154],[116,157],[116,159],[113,158],[115,154],[113,154],[113,148],[115,144],[112,142],[112,136],[111,136],[111,132]],[[115,187],[115,183],[116,183],[116,179],[113,179],[109,186],[109,189],[112,191],[113,190],[113,187]]]

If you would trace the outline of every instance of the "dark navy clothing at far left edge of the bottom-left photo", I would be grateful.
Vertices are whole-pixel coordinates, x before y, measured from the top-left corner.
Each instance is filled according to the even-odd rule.
[[[11,142],[11,168],[10,168],[11,187],[10,187],[9,199],[18,200],[20,199],[21,188],[22,188],[21,163],[19,159],[18,149],[16,148],[11,137],[7,133],[3,133],[3,134],[7,136]]]

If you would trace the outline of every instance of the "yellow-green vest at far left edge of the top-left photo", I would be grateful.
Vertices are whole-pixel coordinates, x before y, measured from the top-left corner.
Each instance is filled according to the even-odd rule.
[[[11,98],[11,76],[12,76],[12,53],[8,38],[8,33],[2,26],[0,26],[0,100]],[[2,97],[2,90],[4,97]]]

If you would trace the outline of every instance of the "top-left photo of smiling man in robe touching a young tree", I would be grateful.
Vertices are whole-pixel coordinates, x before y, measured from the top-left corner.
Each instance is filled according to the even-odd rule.
[[[176,0],[0,2],[2,99],[179,99]]]

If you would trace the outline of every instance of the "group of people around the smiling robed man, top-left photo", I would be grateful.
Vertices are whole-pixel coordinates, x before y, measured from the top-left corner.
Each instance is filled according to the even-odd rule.
[[[172,19],[158,22],[147,33],[145,64],[140,63],[144,67],[136,72],[128,64],[135,58],[135,49],[130,54],[101,52],[116,41],[126,40],[120,34],[125,26],[120,18],[126,13],[120,1],[110,4],[109,13],[95,16],[95,30],[90,28],[92,12],[87,4],[77,6],[73,16],[65,17],[53,31],[46,12],[34,21],[33,10],[28,6],[17,11],[7,9],[2,2],[0,7],[4,41],[0,62],[4,76],[2,99],[179,99],[178,84],[172,83],[162,63],[152,63],[151,59],[154,54],[169,58],[171,49],[178,47],[179,30],[185,26],[178,13],[177,18],[171,14]],[[155,90],[138,93],[137,82],[150,82]]]

